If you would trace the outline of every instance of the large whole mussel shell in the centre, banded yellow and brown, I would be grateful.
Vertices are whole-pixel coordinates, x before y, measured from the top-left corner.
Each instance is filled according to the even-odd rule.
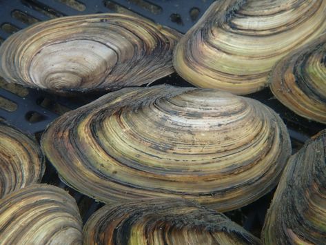
[[[271,190],[291,153],[267,106],[174,86],[105,95],[54,121],[41,146],[64,182],[102,202],[182,196],[217,210]]]

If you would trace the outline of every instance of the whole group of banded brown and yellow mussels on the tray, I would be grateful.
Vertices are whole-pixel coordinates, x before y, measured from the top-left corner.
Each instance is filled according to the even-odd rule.
[[[54,120],[41,147],[0,124],[0,244],[326,243],[326,130],[291,156],[278,114],[239,96],[269,86],[326,124],[326,1],[216,1],[185,35],[125,14],[63,17],[12,35],[0,59],[8,83],[108,91]],[[197,88],[140,86],[174,69]],[[107,204],[84,227],[68,193],[38,184],[45,157]],[[221,213],[276,186],[261,239]]]

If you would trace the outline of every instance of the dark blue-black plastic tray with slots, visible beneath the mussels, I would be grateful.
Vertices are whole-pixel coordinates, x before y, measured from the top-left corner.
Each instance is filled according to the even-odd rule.
[[[98,12],[132,12],[184,33],[201,17],[212,2],[213,0],[1,0],[0,41],[36,21]],[[65,98],[35,89],[17,92],[20,91],[19,86],[8,86],[3,80],[0,82],[0,99],[5,99],[12,104],[10,109],[0,106],[0,118],[37,137],[53,119],[63,112],[77,108],[100,96]],[[160,79],[152,85],[163,83],[192,86],[176,74]],[[322,124],[303,119],[285,108],[273,97],[268,88],[249,97],[262,101],[281,115],[292,138],[294,152],[302,146],[305,140],[325,128]],[[84,221],[94,210],[103,205],[65,186],[50,164],[47,164],[43,182],[68,189],[77,200]],[[227,215],[259,237],[272,194],[273,192],[244,208],[228,212]]]

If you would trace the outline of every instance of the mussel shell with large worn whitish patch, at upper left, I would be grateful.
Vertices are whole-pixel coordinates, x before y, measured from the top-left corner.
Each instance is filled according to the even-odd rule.
[[[124,14],[63,17],[37,23],[0,48],[0,75],[32,88],[103,90],[169,75],[180,35]]]

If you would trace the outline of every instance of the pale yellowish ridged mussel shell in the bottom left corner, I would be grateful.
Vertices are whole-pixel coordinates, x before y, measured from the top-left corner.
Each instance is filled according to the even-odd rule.
[[[36,184],[0,200],[0,244],[81,244],[74,199],[56,186]]]

